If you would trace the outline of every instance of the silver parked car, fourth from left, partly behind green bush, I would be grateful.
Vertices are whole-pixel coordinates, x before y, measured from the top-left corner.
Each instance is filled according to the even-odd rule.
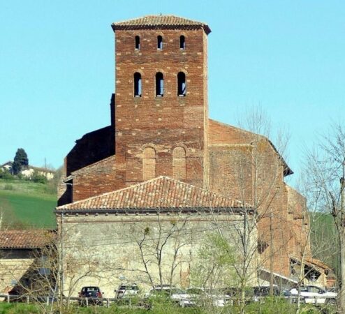
[[[212,304],[213,306],[225,306],[230,300],[230,296],[224,294],[221,290],[210,290],[202,287],[190,287],[186,290],[186,294],[189,295],[188,305],[203,305]],[[185,305],[186,300],[182,300],[182,306]]]

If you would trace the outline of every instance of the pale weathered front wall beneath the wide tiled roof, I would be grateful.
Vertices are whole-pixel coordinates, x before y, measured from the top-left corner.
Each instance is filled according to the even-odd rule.
[[[172,284],[186,287],[192,280],[191,272],[197,262],[198,248],[207,239],[207,234],[217,232],[217,227],[236,254],[240,255],[242,250],[239,231],[243,228],[244,220],[243,216],[236,214],[79,214],[65,217],[62,224],[61,216],[58,220],[62,230],[61,238],[64,239],[65,295],[70,291],[71,295],[76,296],[83,286],[97,285],[105,292],[105,297],[113,297],[115,288],[122,282],[138,283],[144,290],[148,290],[151,284],[145,273],[142,257],[151,261],[147,264],[149,274],[154,284],[158,285],[159,267],[154,252],[166,240],[161,254],[162,281],[170,283],[175,249],[180,246],[175,259]],[[169,235],[174,228],[175,232]],[[256,230],[252,230],[249,242],[256,247]],[[251,258],[249,285],[254,285],[256,254]]]

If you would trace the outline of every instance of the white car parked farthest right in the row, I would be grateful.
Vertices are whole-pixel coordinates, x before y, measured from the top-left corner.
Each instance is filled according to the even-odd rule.
[[[298,289],[290,290],[291,295],[298,295]],[[301,287],[301,297],[304,298],[305,303],[311,304],[335,304],[337,300],[337,293],[323,290],[321,287],[315,285],[304,285]]]

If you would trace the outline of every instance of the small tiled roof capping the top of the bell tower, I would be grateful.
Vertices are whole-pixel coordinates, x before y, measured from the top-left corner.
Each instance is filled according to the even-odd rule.
[[[175,15],[146,15],[133,20],[112,23],[112,29],[196,29],[203,28],[205,33],[210,33],[210,27],[203,23],[187,20]]]

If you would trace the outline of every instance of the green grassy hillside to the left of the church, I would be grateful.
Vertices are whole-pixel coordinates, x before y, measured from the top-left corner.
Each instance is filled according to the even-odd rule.
[[[54,228],[57,194],[52,184],[0,179],[2,228]]]

